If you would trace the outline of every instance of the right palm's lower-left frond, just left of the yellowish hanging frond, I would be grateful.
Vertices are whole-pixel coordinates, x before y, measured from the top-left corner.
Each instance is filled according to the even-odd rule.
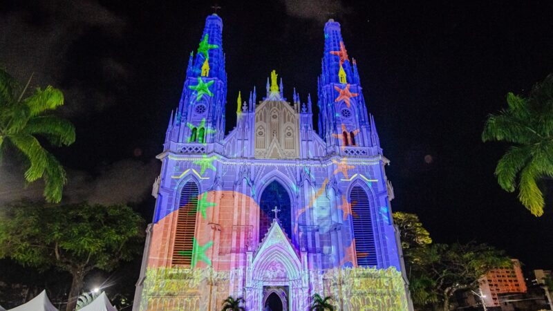
[[[497,163],[497,180],[505,191],[514,191],[516,174],[521,171],[530,158],[528,149],[528,147],[513,146],[509,148]]]

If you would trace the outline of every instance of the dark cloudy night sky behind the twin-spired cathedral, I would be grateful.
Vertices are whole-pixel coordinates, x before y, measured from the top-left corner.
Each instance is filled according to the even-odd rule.
[[[0,6],[0,63],[21,80],[34,72],[33,84],[53,84],[66,94],[62,113],[75,122],[77,142],[56,154],[68,167],[66,196],[73,200],[132,197],[151,217],[153,158],[162,151],[188,55],[213,4],[166,2]],[[486,115],[506,105],[507,92],[527,94],[553,72],[552,1],[218,3],[229,77],[227,130],[234,126],[238,90],[248,93],[255,85],[261,97],[273,68],[285,96],[296,87],[302,101],[308,93],[316,100],[323,27],[332,17],[357,60],[368,110],[391,160],[393,209],[418,214],[435,242],[487,242],[527,268],[553,268],[553,194],[545,214],[532,216],[494,177],[506,146],[480,140]]]

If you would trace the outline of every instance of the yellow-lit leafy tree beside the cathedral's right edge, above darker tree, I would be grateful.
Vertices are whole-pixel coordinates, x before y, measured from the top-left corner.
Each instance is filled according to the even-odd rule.
[[[422,227],[419,216],[411,213],[396,211],[393,213],[393,223],[400,229],[400,238],[402,241],[402,249],[429,245],[432,243],[430,233]]]

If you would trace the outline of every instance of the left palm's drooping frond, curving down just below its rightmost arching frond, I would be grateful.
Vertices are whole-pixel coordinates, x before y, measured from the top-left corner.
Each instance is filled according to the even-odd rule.
[[[28,182],[33,182],[41,178],[48,165],[48,156],[40,142],[32,135],[27,134],[10,135],[7,138],[19,151],[24,153],[30,162],[30,167],[25,172],[25,179]]]

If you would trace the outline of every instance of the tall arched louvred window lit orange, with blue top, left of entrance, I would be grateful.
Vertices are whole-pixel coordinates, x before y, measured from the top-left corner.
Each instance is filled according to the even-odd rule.
[[[198,209],[198,186],[189,181],[180,191],[178,200],[177,225],[173,247],[173,265],[190,265],[194,231],[196,229],[196,210]]]

